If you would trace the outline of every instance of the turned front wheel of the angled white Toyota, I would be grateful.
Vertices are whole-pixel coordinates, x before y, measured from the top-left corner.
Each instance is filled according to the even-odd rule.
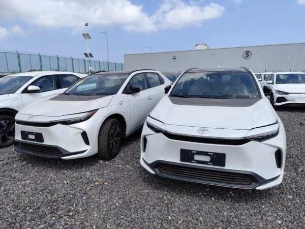
[[[98,156],[103,160],[116,157],[121,144],[121,126],[117,119],[105,120],[98,139]]]

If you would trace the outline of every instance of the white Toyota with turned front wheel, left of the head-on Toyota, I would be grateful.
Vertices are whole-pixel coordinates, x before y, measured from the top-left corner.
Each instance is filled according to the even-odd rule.
[[[100,72],[65,93],[34,102],[16,116],[15,151],[74,159],[112,159],[121,138],[142,128],[171,81],[159,71]]]

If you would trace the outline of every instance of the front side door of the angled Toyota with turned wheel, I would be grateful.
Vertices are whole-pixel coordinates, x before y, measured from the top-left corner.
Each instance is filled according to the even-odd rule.
[[[131,85],[139,87],[140,92],[128,95],[127,93],[131,91]],[[151,106],[153,106],[153,96],[148,89],[149,86],[144,73],[139,73],[130,79],[123,91],[123,93],[127,94],[130,108],[131,132],[143,125],[147,115],[151,111]]]

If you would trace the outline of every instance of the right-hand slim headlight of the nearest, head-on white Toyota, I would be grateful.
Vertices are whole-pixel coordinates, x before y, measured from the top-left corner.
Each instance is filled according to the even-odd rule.
[[[270,126],[252,129],[245,137],[253,141],[265,141],[276,137],[279,134],[279,129],[280,125],[276,123]]]

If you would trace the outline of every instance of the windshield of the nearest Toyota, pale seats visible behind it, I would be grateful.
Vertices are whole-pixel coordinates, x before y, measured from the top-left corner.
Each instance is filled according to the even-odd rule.
[[[259,98],[260,94],[248,72],[192,72],[179,78],[170,96],[253,99]]]

